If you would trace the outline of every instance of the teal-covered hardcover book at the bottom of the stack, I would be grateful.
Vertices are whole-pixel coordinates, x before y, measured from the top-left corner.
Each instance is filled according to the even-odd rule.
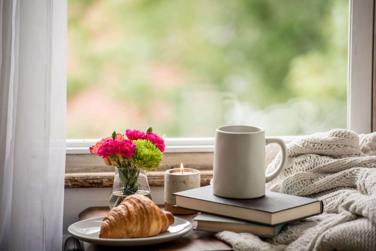
[[[274,237],[286,225],[279,224],[276,226],[266,226],[205,213],[199,214],[196,218],[194,218],[194,221],[197,222],[197,227],[195,228],[195,230],[211,232],[232,231],[237,233],[251,233],[261,237]]]

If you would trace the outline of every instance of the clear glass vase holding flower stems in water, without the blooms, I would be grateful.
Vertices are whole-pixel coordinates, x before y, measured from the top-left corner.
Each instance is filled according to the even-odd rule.
[[[115,167],[114,184],[110,194],[110,209],[117,207],[124,198],[132,194],[141,194],[150,198],[150,187],[146,170]]]

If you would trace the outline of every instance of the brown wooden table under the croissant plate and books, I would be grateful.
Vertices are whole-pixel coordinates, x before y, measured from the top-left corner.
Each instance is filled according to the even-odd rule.
[[[162,208],[163,210],[163,208]],[[105,216],[109,211],[108,207],[89,207],[83,210],[79,214],[80,221]],[[196,222],[193,221],[193,218],[197,214],[193,215],[177,215],[176,217],[190,221],[193,224],[193,227],[196,227]],[[88,242],[83,242],[85,251],[105,251],[111,249],[118,249],[112,247],[111,249],[108,246],[100,246],[91,244]],[[192,230],[189,233],[186,233],[179,239],[173,240],[171,242],[160,243],[151,246],[139,246],[136,247],[137,251],[148,250],[148,251],[227,251],[232,250],[231,246],[227,243],[218,240],[215,238],[212,233],[204,231]],[[120,249],[119,249],[120,250]],[[125,250],[125,249],[124,249]]]

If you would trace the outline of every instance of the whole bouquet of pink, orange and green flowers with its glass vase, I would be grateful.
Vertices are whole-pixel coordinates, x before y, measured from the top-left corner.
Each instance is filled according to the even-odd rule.
[[[115,166],[109,202],[111,209],[117,207],[126,196],[150,193],[146,172],[161,166],[165,149],[164,140],[152,131],[151,127],[146,132],[127,129],[125,135],[114,131],[111,137],[103,138],[89,148],[91,154],[101,156],[106,165]],[[142,182],[146,182],[143,189],[140,187]]]

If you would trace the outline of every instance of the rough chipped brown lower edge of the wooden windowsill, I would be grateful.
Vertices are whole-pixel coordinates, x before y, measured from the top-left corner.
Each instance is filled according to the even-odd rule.
[[[213,170],[200,170],[201,186],[209,185],[213,178]],[[83,188],[83,187],[112,187],[115,172],[77,172],[65,173],[65,188]],[[164,171],[150,172],[147,176],[149,186],[164,186]]]

